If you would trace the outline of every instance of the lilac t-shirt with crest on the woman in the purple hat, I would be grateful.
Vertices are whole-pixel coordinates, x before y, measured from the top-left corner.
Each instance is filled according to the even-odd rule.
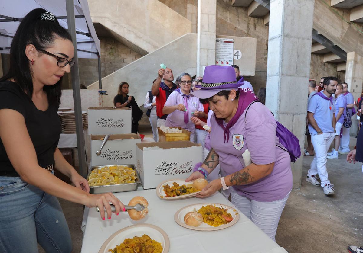
[[[219,163],[226,174],[245,167],[242,154],[249,150],[254,164],[274,162],[270,175],[260,180],[233,186],[239,195],[260,202],[272,202],[285,198],[293,185],[290,155],[277,147],[282,146],[276,136],[276,121],[262,103],[253,103],[230,129],[229,141],[224,142],[223,129],[211,117],[211,146],[219,154]],[[283,147],[283,146],[282,146]]]

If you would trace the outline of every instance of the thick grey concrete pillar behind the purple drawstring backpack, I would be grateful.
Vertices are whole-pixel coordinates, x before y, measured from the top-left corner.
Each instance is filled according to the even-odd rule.
[[[299,139],[301,158],[294,164],[294,188],[301,183],[310,73],[314,0],[271,0],[266,106]]]

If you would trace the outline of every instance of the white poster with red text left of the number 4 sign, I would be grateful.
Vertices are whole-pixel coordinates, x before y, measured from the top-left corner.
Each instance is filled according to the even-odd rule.
[[[216,38],[216,65],[233,65],[233,39]]]

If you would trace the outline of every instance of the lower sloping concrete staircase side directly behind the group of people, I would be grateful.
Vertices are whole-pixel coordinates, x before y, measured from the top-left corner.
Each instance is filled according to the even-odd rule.
[[[121,81],[130,84],[129,94],[135,97],[139,106],[142,106],[146,92],[151,90],[152,81],[158,76],[157,71],[160,69],[161,63],[172,66],[175,73],[174,80],[177,73],[187,72],[193,76],[196,75],[196,54],[197,34],[187,33],[102,78],[102,89],[110,94],[103,96],[103,106],[114,106],[114,94],[117,94]],[[98,82],[87,86],[87,88],[98,89]]]

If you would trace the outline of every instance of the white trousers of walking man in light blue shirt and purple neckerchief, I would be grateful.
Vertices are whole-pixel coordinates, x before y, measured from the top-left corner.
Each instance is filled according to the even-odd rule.
[[[334,137],[335,133],[314,134],[311,136],[311,143],[314,146],[315,155],[310,164],[310,170],[307,171],[307,175],[319,174],[321,187],[324,187],[325,184],[330,184],[326,169],[326,156]]]

